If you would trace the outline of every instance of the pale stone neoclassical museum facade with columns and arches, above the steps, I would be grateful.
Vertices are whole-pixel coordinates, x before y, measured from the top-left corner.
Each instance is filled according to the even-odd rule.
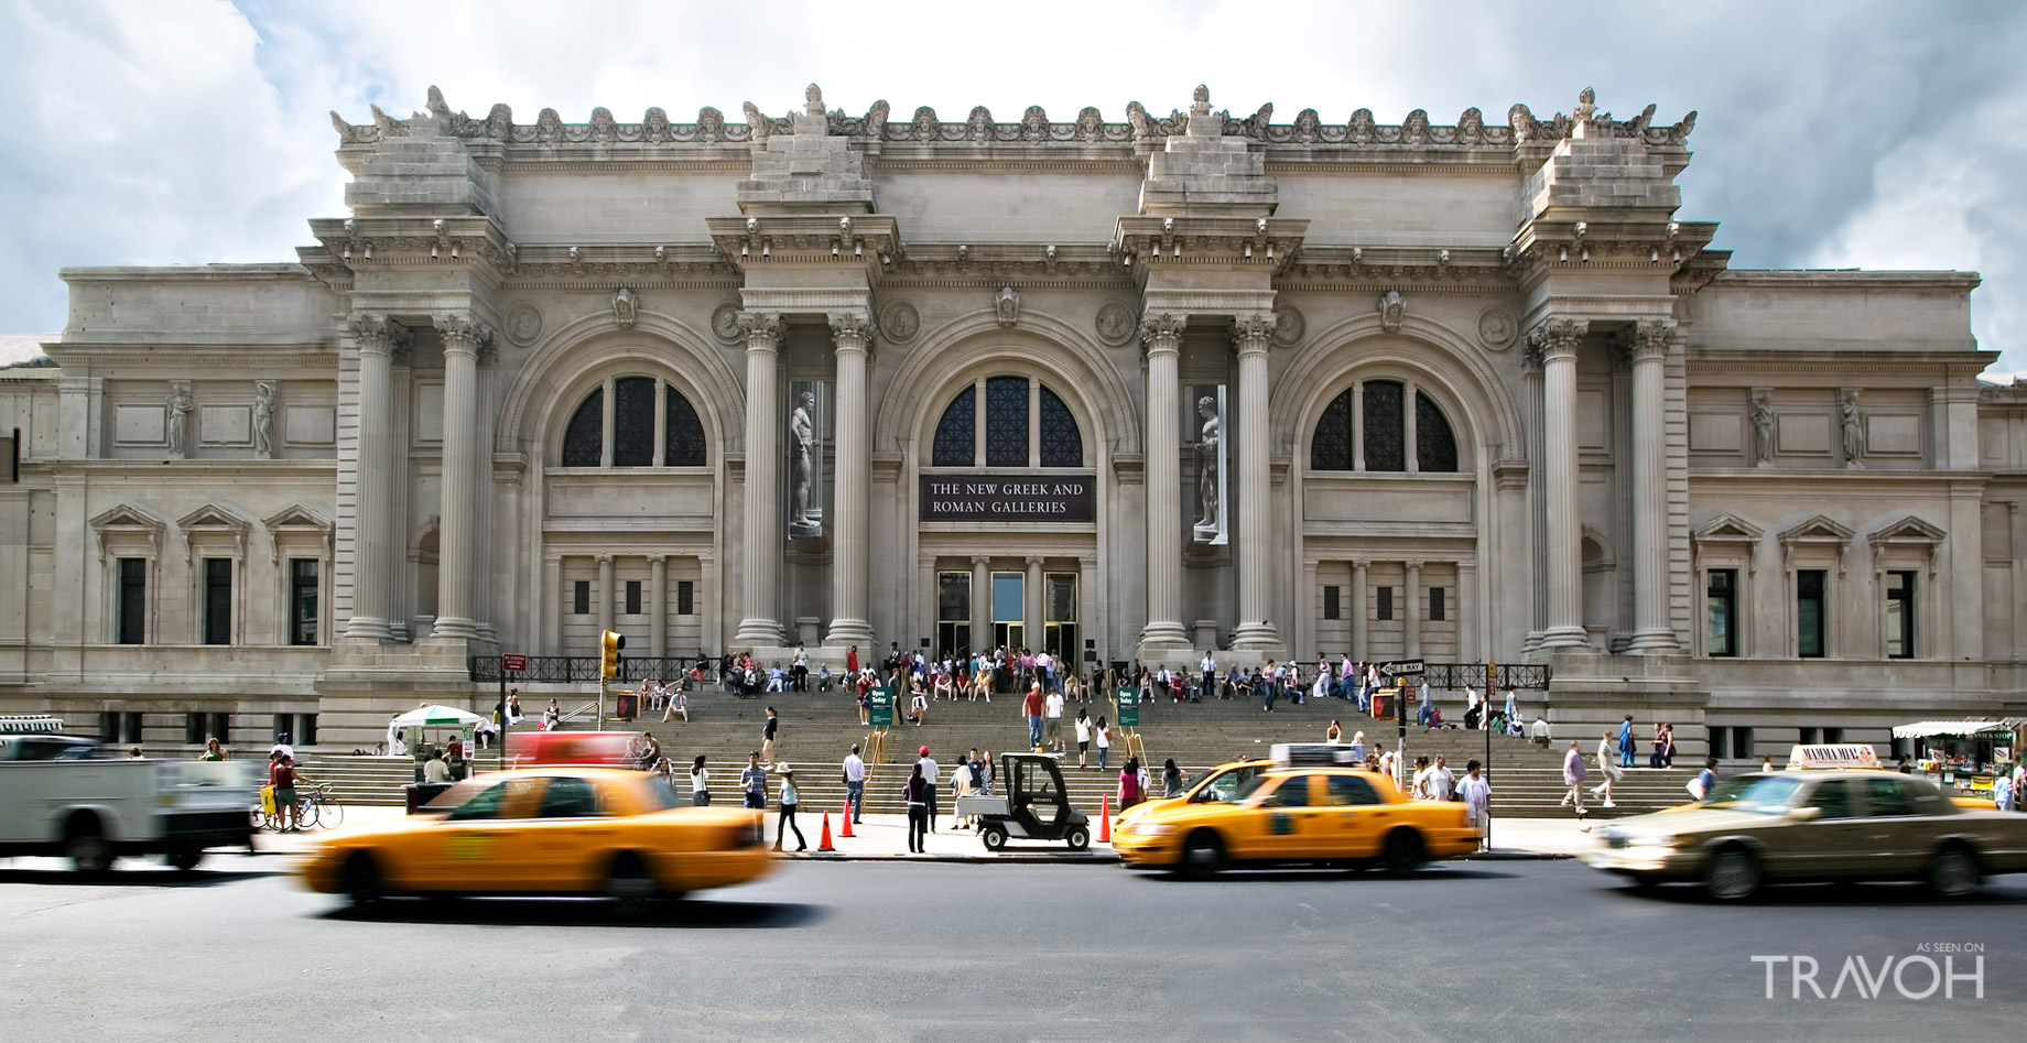
[[[0,373],[0,709],[349,747],[604,628],[1545,662],[1729,757],[2027,709],[1974,273],[1731,269],[1695,113],[1589,91],[1123,113],[334,113],[294,263],[65,269]]]

